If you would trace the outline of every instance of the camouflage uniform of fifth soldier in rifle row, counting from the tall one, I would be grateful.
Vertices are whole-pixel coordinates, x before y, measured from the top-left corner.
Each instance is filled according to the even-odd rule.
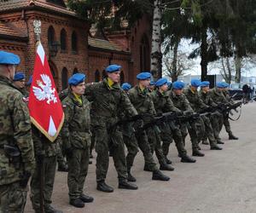
[[[189,100],[189,103],[192,107],[192,109],[195,112],[200,112],[201,110],[204,110],[208,106],[201,100],[201,97],[199,96],[197,91],[192,91],[190,88],[184,89],[184,94],[186,95],[187,99]],[[211,147],[215,146],[217,141],[214,138],[213,130],[212,130],[212,124],[210,119],[207,116],[202,116],[199,118],[196,123],[196,127],[199,128],[199,133],[197,134],[197,142],[200,143],[203,136],[206,134]]]

